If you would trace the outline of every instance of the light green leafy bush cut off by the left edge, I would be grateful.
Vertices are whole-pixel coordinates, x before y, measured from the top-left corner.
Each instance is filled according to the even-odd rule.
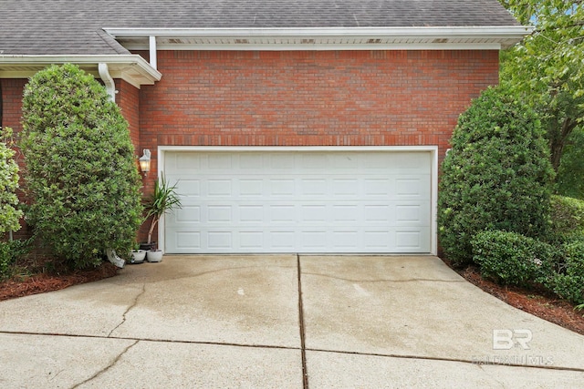
[[[0,234],[20,230],[18,220],[22,218],[22,210],[17,208],[19,176],[11,138],[12,128],[0,128]]]

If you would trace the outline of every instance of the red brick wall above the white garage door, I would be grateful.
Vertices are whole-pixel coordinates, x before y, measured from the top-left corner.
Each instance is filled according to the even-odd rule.
[[[152,169],[157,145],[438,145],[442,159],[458,115],[498,82],[498,52],[160,51],[158,68],[141,89]]]

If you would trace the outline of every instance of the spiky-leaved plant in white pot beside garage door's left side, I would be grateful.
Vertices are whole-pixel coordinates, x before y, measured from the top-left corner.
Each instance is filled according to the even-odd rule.
[[[147,242],[151,249],[146,254],[146,261],[160,262],[162,261],[162,250],[153,250],[152,232],[164,213],[181,208],[181,198],[176,193],[176,184],[171,186],[161,175],[154,184],[154,192],[144,202],[144,208],[147,210],[146,219],[151,218]]]

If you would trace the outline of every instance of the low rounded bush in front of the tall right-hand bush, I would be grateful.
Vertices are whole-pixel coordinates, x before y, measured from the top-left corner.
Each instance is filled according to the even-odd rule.
[[[485,230],[471,241],[481,274],[504,285],[532,286],[553,273],[556,249],[516,232]]]

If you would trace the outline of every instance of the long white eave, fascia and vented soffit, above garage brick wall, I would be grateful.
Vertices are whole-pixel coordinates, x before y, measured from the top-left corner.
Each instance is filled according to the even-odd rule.
[[[387,28],[104,28],[129,50],[391,50],[500,49],[527,26]]]

